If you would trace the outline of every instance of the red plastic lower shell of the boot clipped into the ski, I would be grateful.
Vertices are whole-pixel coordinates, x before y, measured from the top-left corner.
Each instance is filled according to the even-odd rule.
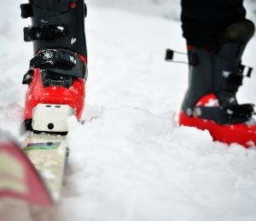
[[[38,104],[58,104],[70,105],[76,111],[76,116],[80,120],[84,110],[84,98],[84,79],[76,79],[70,88],[58,86],[44,88],[41,82],[40,70],[36,68],[34,69],[32,82],[26,92],[24,118],[25,120],[32,119],[32,110]]]

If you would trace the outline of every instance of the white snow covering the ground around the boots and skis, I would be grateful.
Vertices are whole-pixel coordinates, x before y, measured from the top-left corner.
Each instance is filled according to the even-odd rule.
[[[32,43],[22,42],[21,1],[1,2],[0,122],[20,138]],[[246,2],[256,21],[255,1]],[[177,127],[187,66],[164,60],[185,52],[179,1],[89,0],[89,78],[82,124],[71,117],[61,204],[4,205],[13,221],[255,221],[256,150],[212,142],[207,131]],[[253,58],[256,38],[244,54]],[[256,103],[256,78],[238,100]]]

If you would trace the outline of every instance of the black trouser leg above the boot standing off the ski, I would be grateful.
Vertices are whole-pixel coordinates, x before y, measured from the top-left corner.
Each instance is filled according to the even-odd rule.
[[[242,0],[182,0],[183,37],[189,45],[216,48],[225,27],[245,20]]]

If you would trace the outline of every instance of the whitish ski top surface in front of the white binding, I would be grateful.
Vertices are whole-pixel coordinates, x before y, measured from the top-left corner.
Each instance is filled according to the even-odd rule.
[[[47,133],[32,133],[22,144],[26,156],[32,161],[49,195],[60,201],[64,168],[67,157],[67,137]]]

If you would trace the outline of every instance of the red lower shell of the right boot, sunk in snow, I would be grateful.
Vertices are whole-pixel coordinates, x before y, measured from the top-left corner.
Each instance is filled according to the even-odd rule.
[[[197,127],[201,130],[208,130],[213,140],[218,140],[226,144],[237,143],[246,148],[256,146],[256,125],[246,123],[236,123],[232,125],[220,125],[216,122],[201,119],[195,116],[187,116],[180,111],[178,117],[180,126]]]

